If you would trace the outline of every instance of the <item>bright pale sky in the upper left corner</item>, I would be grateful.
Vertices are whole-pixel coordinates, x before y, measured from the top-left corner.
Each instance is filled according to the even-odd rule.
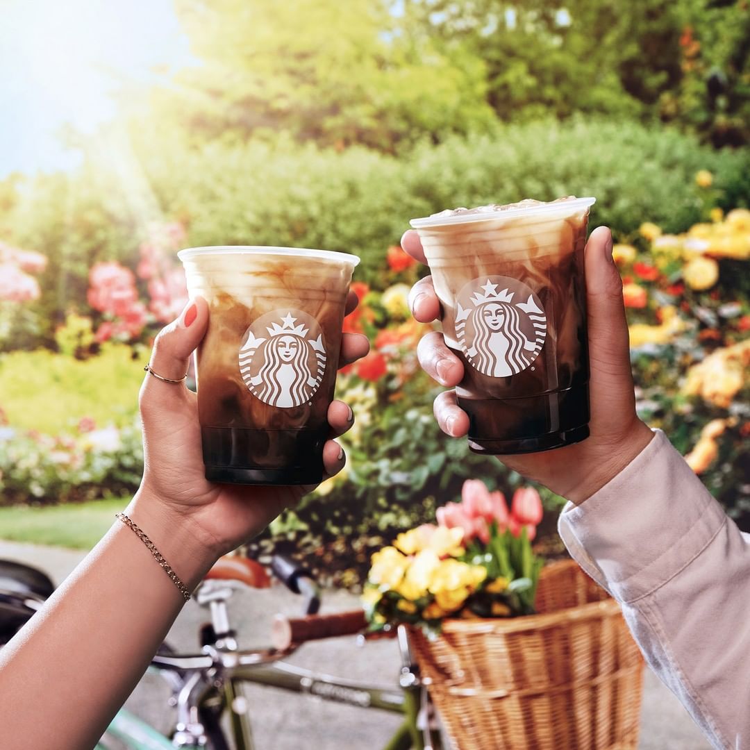
[[[66,125],[92,132],[119,86],[190,62],[172,0],[1,0],[0,179],[75,166]]]

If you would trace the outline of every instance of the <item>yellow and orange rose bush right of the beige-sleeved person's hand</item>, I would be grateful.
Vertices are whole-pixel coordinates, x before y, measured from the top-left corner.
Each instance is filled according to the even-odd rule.
[[[750,210],[715,205],[682,233],[644,222],[613,260],[628,308],[637,410],[664,430],[730,516],[750,523]]]

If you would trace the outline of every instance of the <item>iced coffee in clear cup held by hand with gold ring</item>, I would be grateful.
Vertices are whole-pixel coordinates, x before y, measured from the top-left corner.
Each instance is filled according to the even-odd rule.
[[[196,352],[205,477],[320,482],[341,324],[359,258],[263,247],[178,255],[190,296],[203,297],[210,312]]]

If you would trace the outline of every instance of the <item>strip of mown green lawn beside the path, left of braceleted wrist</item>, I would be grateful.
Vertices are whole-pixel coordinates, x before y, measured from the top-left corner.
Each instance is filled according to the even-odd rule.
[[[128,497],[70,505],[0,508],[0,538],[90,550],[115,520]]]

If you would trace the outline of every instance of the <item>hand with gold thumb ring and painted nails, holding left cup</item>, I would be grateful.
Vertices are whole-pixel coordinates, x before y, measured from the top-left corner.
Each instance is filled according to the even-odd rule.
[[[350,292],[347,314],[357,305]],[[162,329],[154,341],[151,367],[167,378],[181,378],[187,371],[190,354],[205,335],[208,305],[196,298],[180,317]],[[365,336],[344,334],[339,365],[354,362],[368,353]],[[145,469],[143,480],[129,514],[149,529],[179,529],[181,547],[195,546],[197,554],[211,564],[212,559],[248,541],[263,530],[284,508],[295,505],[314,487],[266,487],[240,484],[214,484],[206,481],[201,449],[196,395],[183,383],[163,383],[147,374],[139,395],[143,423]],[[344,434],[353,425],[350,407],[333,401],[329,407],[331,437]],[[338,473],[346,463],[343,449],[328,440],[323,449],[326,475]],[[136,514],[143,520],[135,517]],[[162,533],[163,544],[172,544],[172,535]],[[159,547],[157,539],[154,544]],[[160,548],[160,547],[159,547]],[[161,548],[160,548],[161,550]],[[169,559],[166,550],[161,550]],[[181,554],[172,549],[173,555]],[[171,562],[171,561],[170,561]]]

